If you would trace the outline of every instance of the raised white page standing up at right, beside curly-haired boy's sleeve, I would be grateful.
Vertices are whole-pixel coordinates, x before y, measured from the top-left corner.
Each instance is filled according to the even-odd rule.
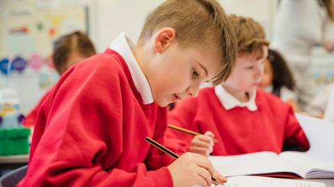
[[[334,162],[334,123],[300,114],[296,118],[310,142],[308,156]]]

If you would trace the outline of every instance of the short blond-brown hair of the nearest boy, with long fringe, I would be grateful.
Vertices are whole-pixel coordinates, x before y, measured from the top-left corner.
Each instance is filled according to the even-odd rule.
[[[221,5],[215,0],[166,0],[150,13],[138,44],[141,45],[161,28],[175,30],[181,48],[216,47],[222,53],[221,70],[214,84],[226,80],[237,58],[237,41]]]

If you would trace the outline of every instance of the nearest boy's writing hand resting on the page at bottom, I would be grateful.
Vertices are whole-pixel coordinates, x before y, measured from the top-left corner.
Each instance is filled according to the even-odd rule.
[[[175,187],[211,186],[211,176],[216,177],[222,183],[226,182],[225,177],[214,170],[207,157],[196,153],[182,154],[167,168],[172,175]]]

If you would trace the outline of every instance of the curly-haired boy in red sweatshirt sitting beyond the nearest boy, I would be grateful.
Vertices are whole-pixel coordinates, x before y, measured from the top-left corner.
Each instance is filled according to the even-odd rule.
[[[231,15],[229,19],[238,42],[232,75],[221,85],[200,90],[198,98],[178,103],[168,118],[168,123],[205,136],[193,138],[175,130],[168,130],[168,136],[184,140],[186,150],[206,156],[279,153],[283,145],[300,145],[307,150],[308,140],[292,108],[280,98],[257,89],[268,55],[269,42],[264,30],[250,18]],[[213,134],[218,139],[215,145]]]

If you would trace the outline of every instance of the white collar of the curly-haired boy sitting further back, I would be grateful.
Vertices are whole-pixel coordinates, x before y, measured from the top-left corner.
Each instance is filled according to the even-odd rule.
[[[256,90],[251,94],[250,99],[246,103],[242,103],[237,100],[234,96],[232,96],[228,91],[226,91],[222,85],[218,85],[214,87],[214,93],[221,101],[221,105],[227,110],[232,109],[234,107],[247,107],[250,111],[256,111],[257,105],[255,103]]]

